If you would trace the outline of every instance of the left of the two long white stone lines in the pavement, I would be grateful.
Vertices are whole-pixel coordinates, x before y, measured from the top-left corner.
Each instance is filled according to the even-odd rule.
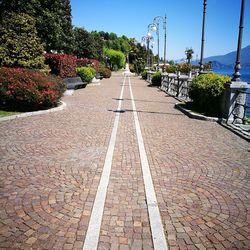
[[[122,106],[122,97],[125,86],[125,77],[122,84],[121,94],[119,98],[118,108],[115,114],[114,126],[111,133],[111,138],[109,141],[108,151],[105,158],[105,163],[103,166],[101,180],[96,192],[96,197],[93,205],[93,209],[90,216],[89,226],[86,234],[86,238],[84,241],[83,249],[84,250],[95,250],[98,247],[102,216],[104,211],[104,205],[106,200],[107,188],[109,183],[109,177],[112,166],[113,153],[116,142],[116,134],[118,130],[119,118],[121,106]]]

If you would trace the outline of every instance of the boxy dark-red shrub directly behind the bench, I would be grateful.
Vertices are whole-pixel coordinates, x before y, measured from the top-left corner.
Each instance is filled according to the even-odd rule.
[[[66,54],[45,54],[51,73],[60,77],[76,76],[76,57]]]

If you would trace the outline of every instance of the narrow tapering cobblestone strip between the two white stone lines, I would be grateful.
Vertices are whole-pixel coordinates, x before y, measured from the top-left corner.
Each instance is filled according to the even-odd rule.
[[[128,80],[125,82],[116,148],[99,249],[153,249]]]

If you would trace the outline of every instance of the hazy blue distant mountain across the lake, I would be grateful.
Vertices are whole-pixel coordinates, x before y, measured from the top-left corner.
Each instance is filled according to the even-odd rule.
[[[228,68],[233,67],[236,59],[236,51],[230,52],[226,55],[210,56],[204,59],[204,62],[211,61],[213,68]],[[241,50],[240,64],[242,68],[250,67],[250,45]]]

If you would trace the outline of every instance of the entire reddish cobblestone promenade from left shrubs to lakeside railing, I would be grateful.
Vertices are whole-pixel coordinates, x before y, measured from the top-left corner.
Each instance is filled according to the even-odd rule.
[[[131,77],[135,113],[123,78],[113,74],[75,91],[63,98],[62,111],[0,122],[0,249],[89,249],[85,238],[116,117],[97,249],[156,248],[150,206],[159,208],[171,250],[250,249],[249,143],[186,117],[175,99]],[[154,205],[147,203],[139,144]]]

